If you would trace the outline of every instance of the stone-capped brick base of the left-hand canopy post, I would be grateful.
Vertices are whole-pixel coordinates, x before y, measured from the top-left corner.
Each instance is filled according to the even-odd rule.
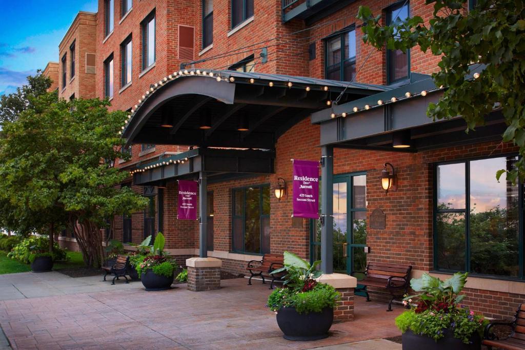
[[[188,290],[193,292],[220,288],[222,261],[215,258],[186,259],[188,268]]]

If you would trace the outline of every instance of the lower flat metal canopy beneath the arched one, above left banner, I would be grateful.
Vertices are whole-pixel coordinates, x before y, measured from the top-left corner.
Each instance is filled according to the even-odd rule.
[[[161,156],[134,169],[133,185],[160,186],[205,172],[209,182],[247,174],[274,173],[275,152],[197,148]]]

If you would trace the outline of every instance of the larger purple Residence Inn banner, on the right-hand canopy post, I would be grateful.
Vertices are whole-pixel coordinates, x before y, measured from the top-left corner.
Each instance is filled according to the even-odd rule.
[[[293,217],[319,219],[319,162],[293,160]]]

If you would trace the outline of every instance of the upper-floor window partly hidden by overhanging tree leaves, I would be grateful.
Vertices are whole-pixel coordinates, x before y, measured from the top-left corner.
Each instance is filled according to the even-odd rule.
[[[409,5],[390,7],[386,13],[386,24],[403,21],[409,17]],[[395,35],[395,33],[394,33]],[[410,51],[386,50],[386,82],[392,84],[410,78]]]

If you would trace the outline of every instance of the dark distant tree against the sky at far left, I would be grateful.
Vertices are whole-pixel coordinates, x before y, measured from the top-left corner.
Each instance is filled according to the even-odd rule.
[[[18,87],[16,92],[0,97],[0,125],[12,122],[28,108],[33,108],[33,100],[47,92],[53,81],[42,74],[39,69],[36,75],[27,77],[27,85]],[[58,94],[54,93],[58,99]]]

